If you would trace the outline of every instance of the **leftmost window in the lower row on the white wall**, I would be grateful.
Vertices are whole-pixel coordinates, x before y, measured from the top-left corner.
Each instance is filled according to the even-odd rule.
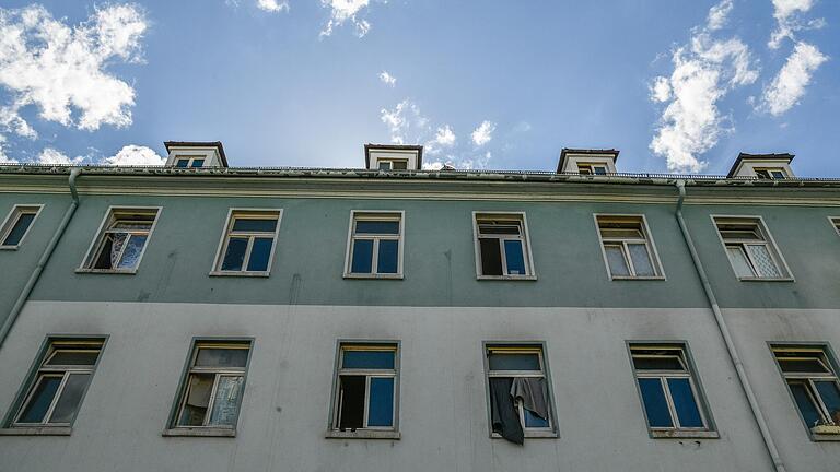
[[[14,427],[69,427],[93,378],[104,339],[48,339],[14,414]]]

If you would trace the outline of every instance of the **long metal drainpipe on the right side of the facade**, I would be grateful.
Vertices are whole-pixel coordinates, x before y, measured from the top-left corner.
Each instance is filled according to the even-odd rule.
[[[740,387],[744,389],[744,393],[747,396],[749,409],[752,411],[752,416],[756,418],[758,429],[761,432],[761,438],[765,440],[765,446],[767,446],[770,460],[773,462],[773,467],[775,468],[777,472],[785,472],[786,469],[784,468],[784,462],[782,461],[781,456],[779,456],[779,449],[775,448],[773,437],[770,434],[770,429],[767,427],[765,415],[761,413],[761,409],[758,406],[758,401],[756,400],[755,393],[752,393],[752,387],[750,386],[749,379],[747,378],[747,373],[744,370],[744,363],[740,361],[738,351],[735,349],[735,343],[732,341],[730,328],[726,327],[726,320],[723,319],[721,307],[718,305],[718,298],[714,296],[712,285],[709,283],[709,278],[705,274],[705,269],[703,269],[703,264],[700,262],[697,248],[695,248],[695,243],[691,240],[691,235],[688,233],[686,221],[682,219],[682,201],[686,198],[686,182],[685,180],[677,180],[676,186],[677,190],[679,190],[679,200],[677,200],[677,211],[674,214],[677,217],[677,222],[679,223],[679,229],[682,232],[682,238],[686,240],[688,251],[691,253],[691,260],[695,263],[695,269],[697,269],[697,274],[700,276],[700,281],[703,283],[705,297],[709,298],[709,305],[712,306],[712,312],[714,312],[714,320],[718,322],[718,329],[721,331],[723,341],[726,344],[726,351],[730,354],[730,358],[735,365],[735,371],[738,375]]]

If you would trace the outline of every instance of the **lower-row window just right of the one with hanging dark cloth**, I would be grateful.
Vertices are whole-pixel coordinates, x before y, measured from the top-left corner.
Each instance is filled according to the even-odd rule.
[[[654,437],[712,429],[686,352],[682,344],[630,345],[642,409]]]

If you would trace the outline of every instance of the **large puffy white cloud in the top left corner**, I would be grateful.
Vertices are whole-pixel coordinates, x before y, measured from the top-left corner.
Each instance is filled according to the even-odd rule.
[[[34,137],[18,114],[28,105],[37,106],[44,120],[82,130],[130,125],[135,91],[105,68],[115,60],[139,61],[147,27],[132,4],[96,9],[73,26],[40,5],[0,9],[0,85],[12,97],[0,125]]]

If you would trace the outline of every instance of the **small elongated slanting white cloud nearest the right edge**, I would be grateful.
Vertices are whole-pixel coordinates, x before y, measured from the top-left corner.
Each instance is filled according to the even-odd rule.
[[[807,43],[796,43],[779,74],[765,87],[760,109],[779,116],[791,109],[805,95],[814,72],[828,56]]]

